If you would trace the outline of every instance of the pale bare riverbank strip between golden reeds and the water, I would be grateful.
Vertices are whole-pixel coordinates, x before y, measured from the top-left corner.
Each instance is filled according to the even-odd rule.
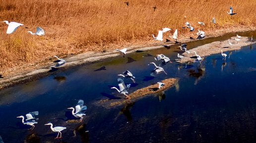
[[[241,28],[237,28],[237,29],[221,29],[221,30],[214,31],[214,32],[205,32],[206,33],[205,38],[223,36],[223,35],[229,34],[229,33],[242,33],[242,32],[255,31],[255,30],[256,30],[255,27],[241,27]],[[216,33],[218,33],[218,34],[216,34]],[[235,36],[235,34],[234,34],[234,36]],[[190,41],[194,41],[194,40],[188,38],[188,36],[183,35],[183,36],[180,36],[178,41],[181,43],[185,43],[185,42],[190,42]],[[157,48],[163,48],[163,45],[172,46],[172,45],[175,45],[175,42],[174,41],[169,41],[169,42],[160,41],[159,42],[159,41],[154,40],[153,42],[148,41],[148,43],[146,43],[144,41],[143,44],[128,45],[128,46],[124,46],[122,48],[127,48],[128,49],[127,53],[132,53],[132,52],[135,52],[135,50],[152,50],[152,49],[157,49]],[[180,45],[180,44],[177,44],[177,47],[178,47],[178,45]],[[236,47],[236,46],[233,46],[233,47]],[[230,50],[228,48],[223,48],[223,51],[225,51],[225,49]],[[218,52],[220,52],[220,51],[218,51]],[[206,55],[209,55],[209,54],[212,54],[212,53],[208,53]],[[206,55],[202,55],[202,56],[206,56]],[[116,57],[116,56],[121,56],[121,53],[116,51],[115,49],[108,49],[108,50],[102,51],[102,52],[90,51],[90,52],[85,52],[85,53],[81,53],[81,54],[77,54],[77,55],[69,54],[64,57],[66,64],[64,64],[59,71],[65,70],[65,69],[68,69],[68,68],[71,68],[74,66],[82,65],[82,64],[100,62],[101,60],[104,60],[106,58],[111,58],[111,57]],[[55,59],[51,58],[48,61],[55,61]],[[186,62],[186,61],[183,61],[183,62]],[[12,74],[9,74],[7,76],[2,75],[3,78],[0,78],[0,89],[6,88],[9,86],[18,84],[18,83],[32,81],[32,80],[44,77],[46,75],[49,75],[49,74],[51,74],[50,70],[54,66],[55,66],[55,63],[53,63],[53,62],[45,62],[45,63],[42,63],[41,66],[28,66],[28,67],[17,68],[19,70],[15,70],[15,71],[11,72]]]

